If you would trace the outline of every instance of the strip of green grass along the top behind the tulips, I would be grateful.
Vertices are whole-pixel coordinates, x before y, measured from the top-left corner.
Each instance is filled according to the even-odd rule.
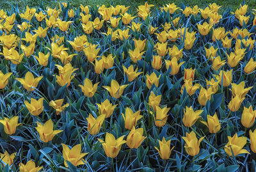
[[[111,4],[111,1],[113,1],[113,4],[124,4],[125,6],[130,6],[130,10],[135,10],[139,5],[144,4],[145,1],[143,0],[1,0],[0,3],[0,9],[4,10],[10,10],[12,5],[18,4],[19,9],[23,11],[26,9],[26,5],[29,7],[36,7],[40,3],[44,3],[45,6],[51,6],[52,8],[56,5],[58,5],[59,2],[69,2],[72,6],[75,8],[79,7],[80,4],[88,4],[88,5],[97,5],[97,4],[106,4],[109,6]],[[204,8],[209,3],[216,3],[218,5],[221,5],[225,8],[230,7],[232,10],[236,10],[236,8],[239,7],[239,4],[243,1],[237,1],[237,0],[206,0],[206,1],[198,1],[198,0],[174,0],[174,1],[168,1],[168,0],[148,0],[149,4],[154,4],[156,8],[159,6],[163,6],[166,3],[175,3],[178,6],[180,6],[180,3],[189,4],[189,6],[198,5],[200,8]],[[256,0],[246,0],[246,4],[248,4],[249,9],[255,9],[256,8]]]

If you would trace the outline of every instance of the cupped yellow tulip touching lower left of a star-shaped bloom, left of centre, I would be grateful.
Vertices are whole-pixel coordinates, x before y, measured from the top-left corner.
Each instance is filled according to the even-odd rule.
[[[105,119],[105,114],[101,114],[96,119],[92,116],[92,114],[89,114],[89,117],[86,118],[88,123],[88,127],[87,127],[88,132],[92,135],[98,134],[104,119]]]

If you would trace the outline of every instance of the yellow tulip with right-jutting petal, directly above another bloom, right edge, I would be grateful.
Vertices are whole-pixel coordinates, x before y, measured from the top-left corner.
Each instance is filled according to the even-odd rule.
[[[250,86],[248,88],[244,88],[245,82],[242,81],[239,84],[231,83],[232,89],[229,89],[232,91],[232,95],[235,97],[238,95],[239,97],[243,98],[247,95],[247,93],[253,88],[253,86]]]

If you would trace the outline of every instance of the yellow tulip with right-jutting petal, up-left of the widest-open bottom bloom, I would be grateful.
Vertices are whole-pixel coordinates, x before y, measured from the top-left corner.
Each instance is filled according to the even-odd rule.
[[[42,125],[37,121],[36,130],[40,136],[40,139],[44,141],[44,143],[51,141],[52,138],[56,136],[56,134],[59,134],[60,132],[63,131],[63,130],[53,130],[53,124],[51,119],[46,121],[44,125]]]

